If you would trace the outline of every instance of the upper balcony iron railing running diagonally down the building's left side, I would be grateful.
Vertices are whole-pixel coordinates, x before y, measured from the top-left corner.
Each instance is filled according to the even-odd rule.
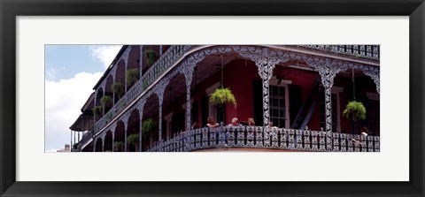
[[[120,114],[130,102],[133,102],[138,95],[141,95],[152,82],[158,79],[158,77],[165,72],[171,65],[173,65],[178,59],[189,51],[192,45],[172,45],[166,50],[162,56],[158,58],[155,64],[151,65],[147,72],[143,73],[143,76],[138,80],[133,87],[128,89],[126,95],[124,95],[115,105],[105,113],[104,117],[100,118],[94,126],[95,133],[99,133],[104,126],[111,121],[114,117]]]

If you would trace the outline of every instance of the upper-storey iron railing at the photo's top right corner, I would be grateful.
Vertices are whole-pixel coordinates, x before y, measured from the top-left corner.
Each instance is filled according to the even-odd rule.
[[[380,45],[300,45],[310,49],[320,49],[329,52],[379,60]]]

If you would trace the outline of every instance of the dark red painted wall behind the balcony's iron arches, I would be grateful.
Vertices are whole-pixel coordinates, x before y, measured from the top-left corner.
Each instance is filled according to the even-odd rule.
[[[290,80],[292,85],[301,87],[301,103],[310,94],[313,84],[319,77],[318,72],[306,71],[290,67],[276,67],[274,68],[274,75],[282,77],[284,80]],[[254,117],[253,111],[253,80],[260,80],[257,66],[251,61],[235,60],[225,65],[224,67],[223,83],[225,87],[229,87],[236,97],[237,107],[232,104],[226,105],[226,125],[231,122],[233,117],[238,117],[239,121],[246,121],[248,117]],[[206,123],[202,122],[202,111],[208,109],[201,108],[201,99],[205,96],[205,89],[213,86],[213,84],[220,81],[220,72],[213,73],[206,80],[197,84],[197,93],[192,95],[194,102],[198,105],[198,122],[200,125],[205,126]],[[344,91],[340,93],[340,119],[341,130],[350,130],[350,122],[345,119],[342,114],[345,105],[348,101],[352,101],[352,79],[347,76],[338,74],[334,80],[334,87],[344,87]],[[362,76],[356,79],[356,100],[365,99],[366,92],[376,92],[375,83],[367,76]],[[291,94],[291,93],[289,93]],[[290,96],[290,95],[288,95]],[[324,96],[324,95],[323,95]],[[324,99],[323,99],[324,100]],[[180,98],[179,106],[186,102],[186,98]],[[290,110],[289,106],[289,110]],[[316,106],[313,116],[310,119],[308,127],[311,130],[320,131],[320,105]],[[290,119],[290,125],[293,120]],[[257,123],[260,125],[260,123]],[[324,129],[324,128],[323,128]]]

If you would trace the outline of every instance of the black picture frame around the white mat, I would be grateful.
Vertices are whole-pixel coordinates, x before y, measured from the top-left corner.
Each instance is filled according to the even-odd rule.
[[[423,196],[423,0],[0,0],[1,196]],[[118,15],[409,16],[409,182],[17,182],[16,17]],[[404,66],[404,65],[400,65]],[[401,104],[402,105],[402,104]],[[407,128],[407,126],[406,126]],[[407,132],[407,131],[403,131]]]

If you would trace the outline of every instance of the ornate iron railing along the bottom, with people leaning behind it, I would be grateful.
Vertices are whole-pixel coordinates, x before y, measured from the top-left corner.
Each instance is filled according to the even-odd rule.
[[[148,152],[188,152],[205,148],[275,148],[319,152],[379,152],[379,136],[326,133],[263,126],[220,126],[182,133],[156,142]]]

